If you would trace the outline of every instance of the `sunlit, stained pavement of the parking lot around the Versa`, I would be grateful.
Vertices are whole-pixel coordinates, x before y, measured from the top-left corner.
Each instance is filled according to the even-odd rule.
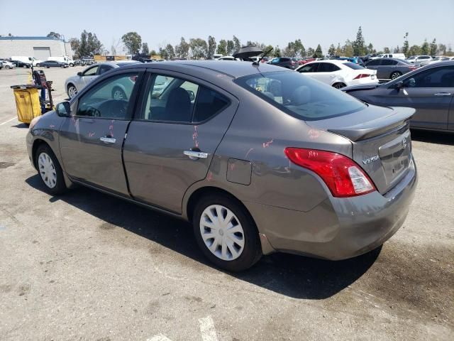
[[[45,70],[56,102],[82,67]],[[0,340],[454,340],[454,136],[413,133],[404,227],[347,261],[228,274],[188,224],[94,190],[43,192],[0,70]]]

